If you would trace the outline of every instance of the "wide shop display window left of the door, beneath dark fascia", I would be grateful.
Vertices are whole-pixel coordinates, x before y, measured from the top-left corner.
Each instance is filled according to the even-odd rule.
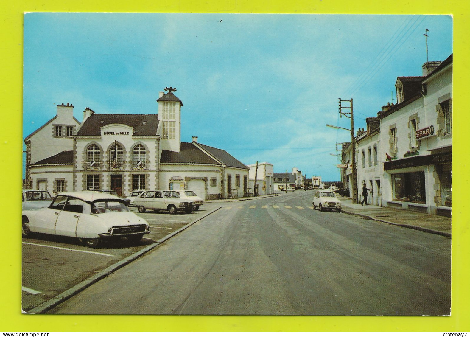
[[[424,171],[392,174],[393,200],[426,203]]]

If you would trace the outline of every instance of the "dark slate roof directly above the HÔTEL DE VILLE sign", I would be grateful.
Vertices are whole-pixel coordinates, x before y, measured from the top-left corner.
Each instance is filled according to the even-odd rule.
[[[145,122],[145,123],[144,123]],[[77,136],[99,136],[100,127],[124,124],[134,128],[133,136],[157,135],[158,115],[92,114],[78,129]]]

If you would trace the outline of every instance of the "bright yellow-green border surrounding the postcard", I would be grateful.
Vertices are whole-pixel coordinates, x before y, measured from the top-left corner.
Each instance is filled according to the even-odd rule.
[[[1,258],[0,331],[469,331],[469,193],[464,152],[470,17],[468,0],[96,0],[0,1]],[[450,317],[338,316],[131,316],[21,313],[22,64],[24,12],[347,13],[452,14],[454,16],[454,165],[452,314]],[[430,27],[431,28],[431,27]],[[465,114],[465,115],[464,115]],[[18,202],[16,202],[18,200]],[[156,299],[158,300],[158,299]],[[106,324],[103,324],[106,322]]]

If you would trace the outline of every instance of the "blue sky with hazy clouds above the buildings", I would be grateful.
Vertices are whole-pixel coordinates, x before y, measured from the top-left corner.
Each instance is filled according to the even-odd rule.
[[[418,15],[93,14],[24,16],[24,137],[73,103],[96,113],[157,113],[176,87],[181,141],[227,150],[244,164],[296,166],[339,180],[336,142],[387,102],[398,76],[452,54],[452,18]],[[393,94],[392,94],[393,93]]]

